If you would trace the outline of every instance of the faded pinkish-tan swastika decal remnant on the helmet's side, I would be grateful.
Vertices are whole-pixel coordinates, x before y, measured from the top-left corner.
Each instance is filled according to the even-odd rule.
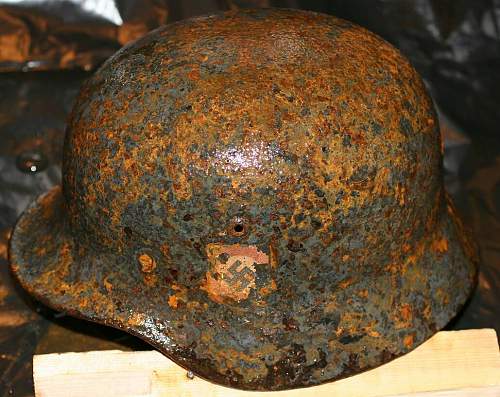
[[[201,289],[217,303],[247,299],[255,289],[255,265],[269,264],[269,257],[254,246],[208,244],[206,250],[210,270]]]

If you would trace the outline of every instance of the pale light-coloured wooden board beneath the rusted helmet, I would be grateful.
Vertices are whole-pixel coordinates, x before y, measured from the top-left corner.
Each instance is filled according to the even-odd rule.
[[[33,358],[37,397],[500,397],[494,330],[439,332],[371,371],[312,388],[243,392],[195,377],[156,351],[92,351]]]

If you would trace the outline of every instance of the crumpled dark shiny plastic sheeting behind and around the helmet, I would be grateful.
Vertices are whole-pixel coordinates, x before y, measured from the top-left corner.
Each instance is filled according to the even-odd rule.
[[[478,288],[450,329],[500,330],[500,1],[0,0],[0,396],[33,395],[35,353],[148,349],[32,301],[13,282],[11,228],[59,183],[65,120],[85,78],[163,23],[236,7],[290,7],[356,22],[399,48],[440,110],[445,182],[481,250]]]

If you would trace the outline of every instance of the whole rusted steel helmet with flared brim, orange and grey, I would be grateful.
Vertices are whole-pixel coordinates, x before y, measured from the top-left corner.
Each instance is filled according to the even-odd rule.
[[[346,21],[273,9],[171,24],[107,61],[73,110],[62,189],[10,248],[47,305],[255,390],[412,350],[476,273],[408,61]]]

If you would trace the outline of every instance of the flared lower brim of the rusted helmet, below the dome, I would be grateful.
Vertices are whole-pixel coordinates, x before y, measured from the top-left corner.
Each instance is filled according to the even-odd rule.
[[[329,301],[290,302],[300,319],[272,305],[228,307],[204,291],[196,304],[172,305],[167,288],[134,289],[142,281],[123,261],[135,258],[76,241],[60,187],[23,213],[9,255],[22,286],[55,310],[134,334],[207,380],[282,390],[377,367],[455,316],[474,286],[477,257],[450,205],[417,246],[404,267],[386,268],[365,289],[346,283]]]

